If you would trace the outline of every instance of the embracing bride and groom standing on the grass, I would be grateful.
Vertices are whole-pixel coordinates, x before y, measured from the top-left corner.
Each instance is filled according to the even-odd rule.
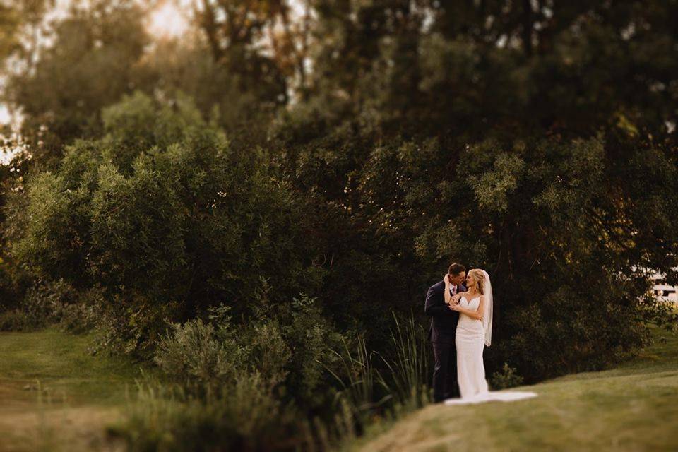
[[[467,275],[463,265],[453,263],[443,280],[429,287],[424,313],[431,317],[429,340],[436,360],[434,402],[456,405],[536,396],[491,392],[487,387],[482,352],[492,343],[492,307],[492,283],[478,268]]]

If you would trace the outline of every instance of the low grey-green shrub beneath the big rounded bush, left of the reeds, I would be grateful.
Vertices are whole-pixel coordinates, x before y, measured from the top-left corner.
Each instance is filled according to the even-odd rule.
[[[256,373],[261,383],[299,405],[323,402],[321,358],[341,335],[325,321],[315,300],[295,299],[292,311],[261,316],[249,326],[234,323],[226,306],[210,309],[209,321],[175,324],[158,342],[155,362],[185,391],[204,393]]]

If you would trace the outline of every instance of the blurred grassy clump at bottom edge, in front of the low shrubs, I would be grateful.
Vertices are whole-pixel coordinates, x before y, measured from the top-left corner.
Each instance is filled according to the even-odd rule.
[[[290,448],[295,416],[258,374],[240,374],[205,398],[162,384],[141,386],[126,420],[112,433],[130,451],[276,450]]]

